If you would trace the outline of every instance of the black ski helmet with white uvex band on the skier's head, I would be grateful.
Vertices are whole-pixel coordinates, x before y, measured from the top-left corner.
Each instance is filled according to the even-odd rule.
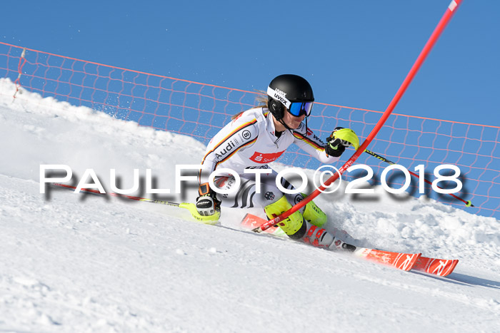
[[[283,118],[285,108],[291,103],[314,102],[314,94],[305,78],[294,74],[283,74],[273,78],[267,88],[267,107],[277,121]]]

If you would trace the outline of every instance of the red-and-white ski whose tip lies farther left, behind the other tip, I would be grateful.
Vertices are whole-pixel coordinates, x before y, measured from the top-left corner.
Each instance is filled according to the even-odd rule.
[[[263,223],[267,222],[261,217],[246,214],[241,220],[241,225],[246,229],[252,230],[259,227]],[[272,235],[284,235],[284,232],[280,227],[270,227],[264,232],[268,232]],[[409,271],[414,268],[417,260],[421,253],[400,253],[400,252],[389,252],[382,250],[368,249],[365,247],[356,247],[353,252],[354,255],[362,257],[371,262],[378,262],[380,264],[389,265],[398,268],[399,270]]]

